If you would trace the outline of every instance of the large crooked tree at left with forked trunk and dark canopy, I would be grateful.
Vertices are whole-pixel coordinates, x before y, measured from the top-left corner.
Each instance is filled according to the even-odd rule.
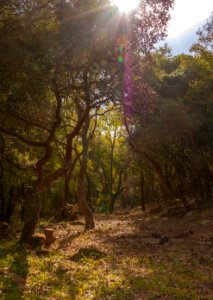
[[[84,123],[90,118],[90,112],[100,107],[100,105],[111,101],[113,94],[112,83],[111,90],[108,87],[108,82],[112,78],[110,77],[112,71],[110,70],[109,75],[108,70],[110,67],[104,63],[108,59],[109,53],[106,56],[106,53],[103,52],[103,48],[108,44],[107,49],[109,50],[112,43],[110,44],[110,39],[107,38],[104,23],[102,20],[99,21],[96,18],[100,4],[95,1],[88,1],[84,6],[79,5],[79,3],[75,3],[73,6],[73,3],[65,1],[58,3],[57,1],[52,2],[50,6],[49,4],[50,3],[47,2],[44,6],[39,7],[38,3],[35,2],[31,7],[30,4],[29,6],[25,6],[24,4],[22,6],[22,4],[17,3],[18,8],[14,8],[13,4],[9,3],[3,7],[3,12],[4,9],[6,11],[6,21],[3,24],[3,29],[6,32],[9,30],[8,24],[10,21],[20,23],[21,34],[23,35],[23,44],[20,47],[19,39],[14,37],[16,34],[14,25],[14,31],[12,31],[14,43],[8,46],[9,49],[10,47],[17,46],[18,49],[20,48],[22,58],[24,57],[24,53],[27,52],[29,61],[31,56],[35,57],[32,67],[33,70],[35,69],[36,72],[39,73],[37,78],[32,74],[33,79],[36,79],[35,85],[38,83],[37,88],[39,87],[39,89],[36,89],[32,87],[32,84],[28,83],[29,77],[27,74],[31,72],[31,69],[22,68],[20,70],[22,66],[20,67],[18,65],[17,72],[22,72],[25,76],[23,77],[24,79],[22,79],[22,77],[19,79],[18,77],[15,81],[15,85],[17,86],[19,84],[18,86],[20,88],[14,93],[6,89],[6,71],[2,72],[5,86],[3,99],[5,99],[6,104],[5,109],[2,111],[4,125],[1,127],[1,132],[5,135],[12,136],[16,141],[20,141],[25,145],[25,148],[26,145],[29,146],[27,151],[34,154],[34,166],[37,173],[37,179],[33,187],[33,199],[31,199],[29,208],[27,209],[29,215],[22,231],[21,240],[23,241],[27,240],[32,234],[38,220],[41,206],[41,201],[39,200],[41,191],[48,187],[53,180],[69,172],[70,168],[73,167],[73,162],[71,161],[73,139],[80,135],[81,130],[84,128]],[[97,6],[97,10],[94,9],[91,12],[93,5]],[[7,15],[7,11],[11,12],[11,16]],[[84,18],[79,18],[79,15],[84,11],[89,13],[86,14]],[[16,12],[17,16],[13,19],[13,13]],[[46,13],[48,16],[50,15],[50,23],[48,23],[48,19],[46,23],[43,23],[44,14]],[[99,15],[100,14],[99,12]],[[25,23],[26,20],[27,23]],[[85,28],[87,28],[87,34],[84,39],[79,41],[79,35],[85,35]],[[105,31],[104,35],[102,35],[103,31]],[[26,32],[28,35],[25,35]],[[41,32],[42,39],[39,35]],[[31,34],[34,39],[32,39]],[[3,35],[2,40],[7,45],[7,35],[6,39],[5,35]],[[38,42],[39,47],[34,48],[35,41]],[[96,44],[95,52],[92,51],[94,43]],[[87,48],[85,48],[85,46],[87,46]],[[82,53],[83,50],[84,52]],[[50,53],[49,56],[48,53]],[[14,53],[14,56],[15,55],[16,53]],[[10,75],[13,76],[13,71],[11,71]],[[116,74],[113,74],[113,78],[114,82],[116,82]],[[40,82],[41,86],[39,85]],[[31,113],[33,113],[36,120],[33,120],[33,122],[33,118],[29,120],[30,116],[27,115],[27,112],[23,117],[23,110],[19,103],[16,103],[19,112],[14,106],[13,111],[9,111],[6,107],[9,103],[9,95],[14,97],[15,103],[17,101],[17,96],[15,95],[18,95],[22,100],[22,107],[25,110],[28,108],[29,113],[30,109],[32,111],[34,105],[35,110]],[[26,103],[26,101],[29,100],[28,98],[30,98],[31,102]],[[46,102],[43,101],[42,103],[41,98],[45,98]],[[56,101],[55,107],[54,98]],[[65,163],[62,167],[59,167],[59,169],[54,168],[52,170],[50,168],[49,172],[52,173],[47,173],[44,167],[48,168],[48,165],[50,166],[50,160],[54,152],[53,142],[55,141],[57,131],[63,126],[63,107],[68,101],[71,103],[71,108],[76,110],[75,115],[77,119],[74,122],[74,127],[73,124],[71,124],[70,131],[66,132],[66,136],[61,137],[62,142],[64,138],[66,140]],[[27,106],[27,104],[29,105]],[[49,105],[49,119],[47,118],[47,114],[46,116],[44,114],[47,112],[47,110],[44,109],[44,105]],[[15,121],[20,122],[20,124],[18,124],[20,126],[19,133],[18,130],[14,130],[14,128],[7,123],[4,118],[6,113],[10,115],[11,118],[13,117]],[[38,122],[39,118],[41,120],[40,123]],[[47,124],[45,124],[44,120],[47,121]],[[34,140],[32,138],[26,138],[25,135],[22,134],[24,126],[28,126],[31,137],[34,137]],[[35,131],[36,128],[37,131]],[[39,141],[41,139],[43,139],[42,142]],[[41,151],[34,151],[30,147],[43,149],[43,153]]]

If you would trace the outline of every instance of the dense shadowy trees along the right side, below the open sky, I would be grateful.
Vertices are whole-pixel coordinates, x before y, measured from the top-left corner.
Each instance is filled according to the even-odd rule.
[[[198,32],[195,56],[172,57],[161,48],[150,60],[140,60],[126,117],[130,145],[136,159],[143,159],[145,184],[154,184],[161,201],[179,198],[186,208],[212,197],[211,20]],[[152,182],[149,166],[156,174]]]

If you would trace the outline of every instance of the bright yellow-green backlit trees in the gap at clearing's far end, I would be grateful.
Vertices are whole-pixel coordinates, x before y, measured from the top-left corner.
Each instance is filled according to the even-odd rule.
[[[125,136],[121,112],[111,107],[98,122],[91,143],[92,172],[89,173],[93,180],[96,204],[111,213],[116,199],[124,191],[128,172]]]

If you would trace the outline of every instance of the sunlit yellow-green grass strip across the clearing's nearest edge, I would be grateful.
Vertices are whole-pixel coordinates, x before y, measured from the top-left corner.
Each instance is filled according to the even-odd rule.
[[[15,243],[0,244],[0,298],[19,299],[190,299],[209,282],[196,261],[169,263],[147,256],[114,256],[72,261],[62,251],[36,255]]]

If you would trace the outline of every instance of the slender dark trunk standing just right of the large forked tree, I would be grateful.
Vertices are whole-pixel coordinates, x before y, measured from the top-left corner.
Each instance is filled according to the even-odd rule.
[[[89,140],[87,138],[87,132],[89,129],[89,119],[87,120],[83,133],[82,133],[82,160],[78,178],[78,205],[80,212],[84,215],[85,219],[85,230],[90,230],[95,227],[92,211],[87,203],[86,197],[86,171],[87,171],[87,161],[88,161],[88,148]]]

